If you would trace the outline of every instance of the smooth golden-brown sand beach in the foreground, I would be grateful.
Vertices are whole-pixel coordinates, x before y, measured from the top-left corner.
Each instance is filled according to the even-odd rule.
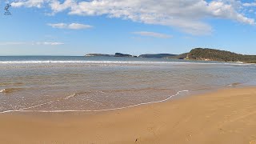
[[[256,88],[101,113],[0,114],[0,143],[256,143]]]

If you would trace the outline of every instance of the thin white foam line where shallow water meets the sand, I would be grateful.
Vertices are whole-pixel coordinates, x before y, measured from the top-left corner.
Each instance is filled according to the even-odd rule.
[[[46,105],[46,104],[50,104],[50,103],[60,101],[60,100],[56,100],[56,101],[46,102],[46,103],[42,103],[40,105],[30,106],[30,107],[26,107],[26,108],[22,108],[22,109],[18,109],[18,110],[2,111],[2,112],[0,112],[0,114],[6,114],[6,113],[11,113],[11,112],[65,113],[65,112],[102,112],[102,111],[110,111],[110,110],[122,110],[122,109],[127,109],[127,108],[135,107],[135,106],[142,106],[142,105],[149,105],[149,104],[153,104],[153,103],[166,102],[166,101],[170,100],[170,98],[173,98],[173,97],[177,96],[180,93],[184,93],[184,92],[188,92],[188,91],[189,90],[178,91],[176,94],[170,95],[170,97],[168,97],[166,99],[163,99],[163,100],[160,100],[160,101],[143,102],[143,103],[139,103],[139,104],[136,104],[136,105],[118,107],[118,108],[113,108],[113,109],[104,109],[104,110],[28,110],[28,109],[31,109],[31,108],[34,108],[34,107],[43,106],[43,105]]]

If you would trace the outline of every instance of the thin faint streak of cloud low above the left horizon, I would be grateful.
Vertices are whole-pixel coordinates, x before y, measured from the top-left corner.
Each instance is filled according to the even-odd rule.
[[[64,45],[62,42],[0,42],[0,46],[10,46],[10,45],[50,45],[58,46]]]

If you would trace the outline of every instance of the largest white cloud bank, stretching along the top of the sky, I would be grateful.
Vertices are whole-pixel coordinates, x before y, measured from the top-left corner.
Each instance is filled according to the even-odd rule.
[[[210,34],[212,27],[206,18],[230,19],[254,25],[241,11],[244,6],[236,0],[17,0],[17,6],[49,6],[53,14],[68,11],[68,14],[130,19],[134,22],[170,26],[189,34]]]

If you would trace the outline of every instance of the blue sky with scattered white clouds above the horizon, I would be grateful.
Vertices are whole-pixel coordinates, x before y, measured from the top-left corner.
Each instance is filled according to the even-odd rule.
[[[0,55],[256,54],[256,0],[0,0],[0,18]]]

